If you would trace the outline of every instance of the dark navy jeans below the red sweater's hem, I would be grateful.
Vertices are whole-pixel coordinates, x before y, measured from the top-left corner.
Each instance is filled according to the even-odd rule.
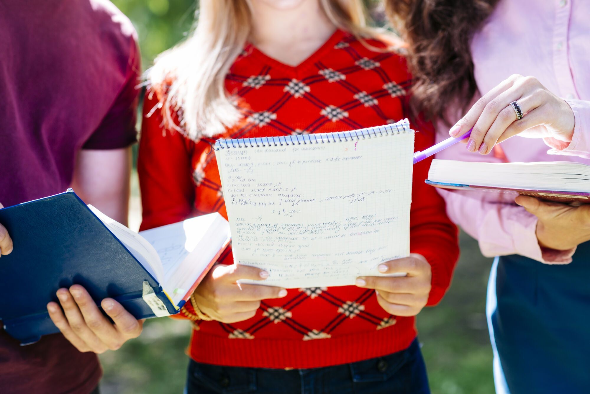
[[[189,363],[187,394],[277,392],[429,394],[430,389],[417,339],[408,349],[389,356],[313,369],[225,367],[194,360]]]

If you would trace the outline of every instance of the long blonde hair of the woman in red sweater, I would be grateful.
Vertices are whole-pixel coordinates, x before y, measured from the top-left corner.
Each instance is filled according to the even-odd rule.
[[[374,35],[362,0],[319,2],[337,28],[358,37]],[[192,140],[222,133],[242,117],[225,90],[225,77],[251,31],[248,0],[201,0],[199,4],[194,31],[156,57],[146,73],[148,84],[163,93],[158,109],[166,126]]]

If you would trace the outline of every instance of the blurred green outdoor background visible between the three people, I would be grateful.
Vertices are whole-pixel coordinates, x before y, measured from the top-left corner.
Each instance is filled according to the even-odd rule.
[[[194,0],[112,0],[137,29],[143,68],[176,44],[194,21]],[[130,227],[139,228],[141,208],[134,173]],[[419,339],[435,394],[487,394],[494,391],[492,353],[486,327],[485,297],[491,259],[477,242],[461,234],[461,260],[441,304],[418,315]],[[182,393],[188,357],[188,321],[150,319],[142,336],[117,352],[101,354],[103,394]]]

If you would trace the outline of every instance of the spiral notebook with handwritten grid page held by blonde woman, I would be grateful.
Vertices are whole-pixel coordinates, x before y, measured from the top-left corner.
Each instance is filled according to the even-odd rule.
[[[381,275],[379,263],[409,255],[414,130],[407,119],[218,140],[214,149],[234,262],[267,270],[263,284],[352,285],[359,275]]]

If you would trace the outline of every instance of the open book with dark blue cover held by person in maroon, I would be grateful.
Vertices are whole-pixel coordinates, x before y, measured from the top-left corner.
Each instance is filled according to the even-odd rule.
[[[139,235],[71,189],[0,209],[0,223],[14,241],[0,259],[0,320],[23,344],[58,332],[47,303],[73,284],[99,305],[114,298],[137,319],[178,313],[230,242],[219,214]]]

